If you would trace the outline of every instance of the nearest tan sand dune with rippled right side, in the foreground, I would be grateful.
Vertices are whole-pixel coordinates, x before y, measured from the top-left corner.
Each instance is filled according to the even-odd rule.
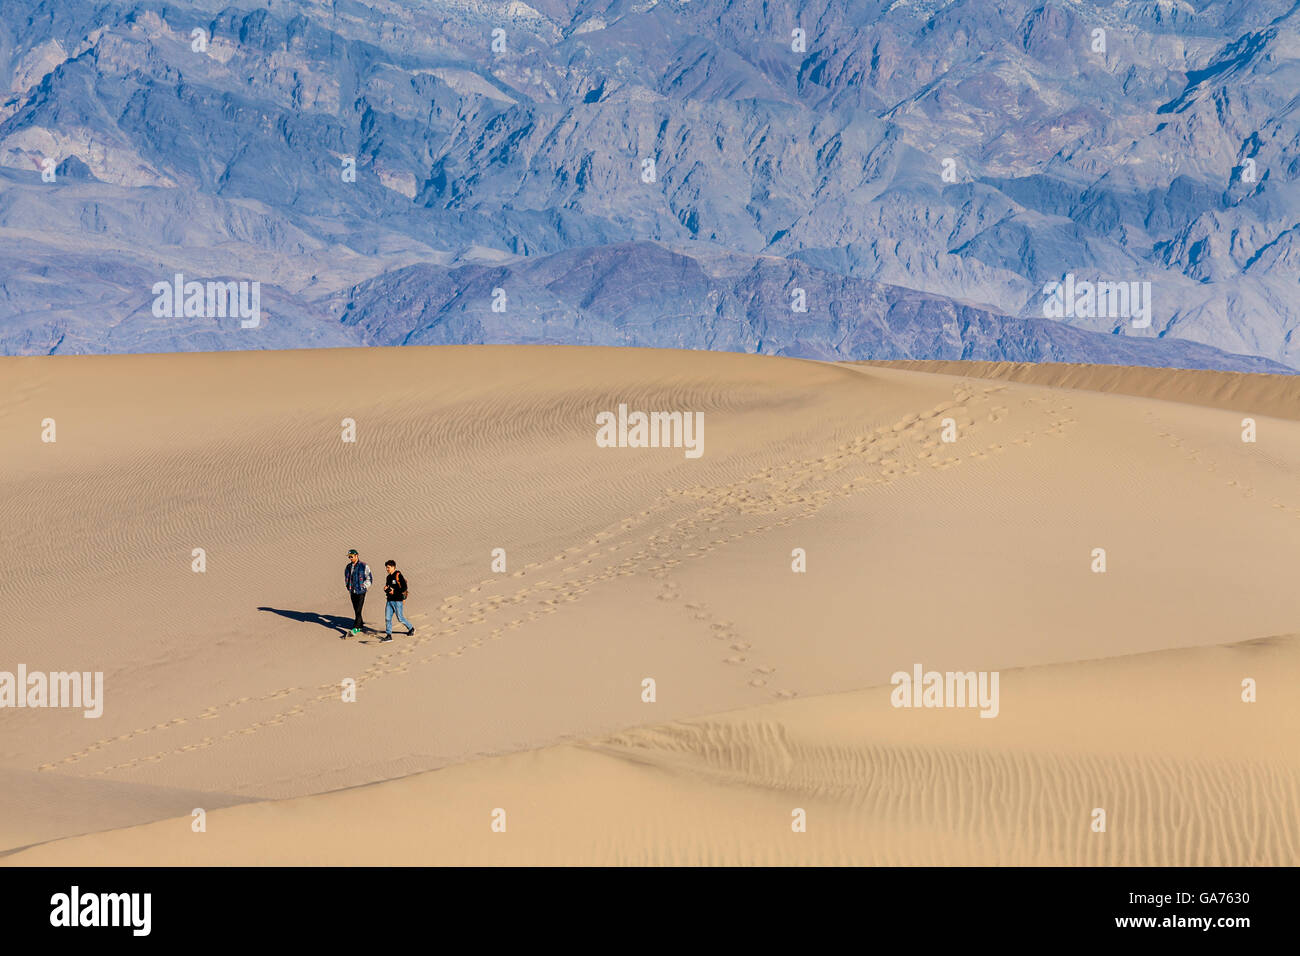
[[[1238,675],[1261,680],[1258,702],[1239,700]],[[1297,679],[1288,636],[1008,671],[993,721],[896,710],[885,689],[831,695],[8,862],[1295,865]]]

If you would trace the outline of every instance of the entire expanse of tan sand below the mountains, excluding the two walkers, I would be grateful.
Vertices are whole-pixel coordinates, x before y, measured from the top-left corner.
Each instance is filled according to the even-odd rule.
[[[6,783],[49,784],[0,848],[1300,862],[1300,412],[1258,378],[1245,444],[1238,405],[723,354],[3,359],[0,670],[107,702],[3,713]],[[597,447],[620,402],[705,412],[703,457]],[[351,546],[402,562],[415,637],[338,639]],[[1002,671],[1000,715],[890,708],[916,662]]]

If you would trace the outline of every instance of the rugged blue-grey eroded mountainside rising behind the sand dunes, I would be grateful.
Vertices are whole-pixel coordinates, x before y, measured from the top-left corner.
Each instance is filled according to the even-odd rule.
[[[1300,8],[1202,7],[9,4],[0,351],[1300,367]],[[266,321],[155,317],[178,272]]]

